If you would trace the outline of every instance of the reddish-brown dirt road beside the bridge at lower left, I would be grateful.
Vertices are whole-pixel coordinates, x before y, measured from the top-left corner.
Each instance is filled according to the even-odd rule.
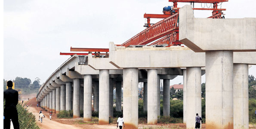
[[[40,129],[83,129],[77,126],[67,125],[50,120],[49,117],[43,118],[43,123],[41,123],[38,121],[39,113],[35,108],[36,107],[29,107],[29,111],[36,116],[37,125],[40,127]]]

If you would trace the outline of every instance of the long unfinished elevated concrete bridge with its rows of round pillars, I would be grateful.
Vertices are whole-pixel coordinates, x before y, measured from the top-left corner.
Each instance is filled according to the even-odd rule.
[[[222,28],[221,22],[229,24]],[[211,38],[217,31],[226,39]],[[83,110],[83,119],[90,121],[93,95],[99,124],[108,124],[109,117],[113,117],[113,88],[116,110],[121,111],[123,87],[126,128],[138,129],[138,83],[144,83],[148,124],[156,124],[160,116],[160,79],[163,114],[169,116],[170,80],[183,75],[184,123],[191,129],[195,114],[201,115],[201,75],[205,73],[207,129],[248,129],[248,65],[256,64],[256,18],[194,18],[191,6],[184,6],[179,11],[179,33],[179,40],[188,47],[127,48],[111,42],[109,58],[88,54],[87,60],[79,64],[72,56],[40,87],[37,101],[56,113],[73,110],[74,118]],[[237,41],[237,34],[242,40]]]

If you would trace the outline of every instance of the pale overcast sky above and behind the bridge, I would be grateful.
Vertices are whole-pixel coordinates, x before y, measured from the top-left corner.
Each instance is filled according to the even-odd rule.
[[[27,77],[41,83],[69,56],[70,47],[108,48],[121,44],[145,28],[143,14],[162,14],[168,0],[4,0],[3,77]],[[182,7],[189,3],[178,3]],[[256,0],[222,3],[225,18],[256,17]],[[210,6],[202,4],[202,6]],[[200,8],[201,4],[195,4]],[[197,18],[211,11],[194,11]],[[151,23],[160,19],[151,19]],[[256,66],[249,69],[256,77]],[[202,77],[205,82],[205,77]],[[183,83],[182,76],[171,84]]]

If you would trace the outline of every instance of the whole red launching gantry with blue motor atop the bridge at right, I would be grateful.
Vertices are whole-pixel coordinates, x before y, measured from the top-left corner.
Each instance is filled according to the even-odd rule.
[[[193,8],[194,10],[213,10],[212,16],[208,18],[224,18],[223,12],[226,9],[219,9],[218,3],[228,2],[228,0],[169,0],[173,2],[173,6],[167,6],[163,8],[163,14],[144,14],[144,18],[147,18],[147,24],[144,26],[147,27],[144,31],[136,34],[131,39],[127,40],[120,46],[142,46],[152,41],[149,45],[163,45],[167,46],[177,46],[182,43],[179,42],[179,8],[177,7],[178,2],[185,3],[210,3],[213,4],[213,8]],[[150,23],[150,18],[164,18],[156,24]],[[162,38],[163,37],[163,38]]]

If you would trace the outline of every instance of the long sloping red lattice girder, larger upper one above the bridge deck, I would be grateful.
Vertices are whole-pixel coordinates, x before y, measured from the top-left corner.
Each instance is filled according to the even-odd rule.
[[[174,15],[171,15],[170,17],[165,18],[160,22],[152,25],[151,27],[145,29],[120,46],[127,47],[130,45],[145,45],[161,37],[164,37],[167,34],[171,34],[179,29],[177,25],[178,17],[179,13],[175,13]]]

